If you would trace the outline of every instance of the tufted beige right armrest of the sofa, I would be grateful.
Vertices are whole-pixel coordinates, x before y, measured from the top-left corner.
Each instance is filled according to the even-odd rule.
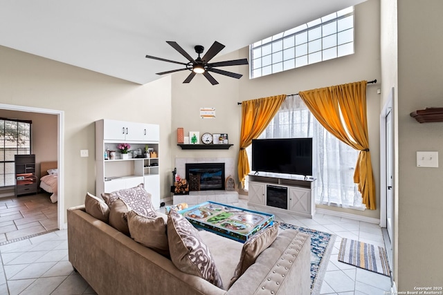
[[[227,294],[311,293],[311,238],[287,229],[257,257]]]

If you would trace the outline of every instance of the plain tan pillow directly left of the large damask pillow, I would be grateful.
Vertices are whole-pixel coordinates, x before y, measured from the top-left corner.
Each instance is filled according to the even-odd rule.
[[[168,236],[166,236],[168,216],[163,213],[157,214],[157,217],[145,217],[135,211],[129,211],[127,213],[129,233],[136,242],[169,258]]]

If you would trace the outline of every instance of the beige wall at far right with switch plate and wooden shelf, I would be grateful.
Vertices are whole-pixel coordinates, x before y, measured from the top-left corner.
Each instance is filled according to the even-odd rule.
[[[443,152],[443,122],[419,124],[410,113],[443,106],[443,1],[398,6],[398,287],[442,286],[442,179],[417,168],[417,151]],[[440,290],[441,291],[441,290]]]

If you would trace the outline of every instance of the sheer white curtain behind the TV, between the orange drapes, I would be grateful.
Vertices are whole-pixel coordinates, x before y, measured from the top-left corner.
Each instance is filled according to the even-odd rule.
[[[289,95],[259,138],[312,137],[316,204],[364,209],[354,184],[359,151],[336,139],[311,115],[298,95]],[[251,161],[251,146],[246,149]],[[251,162],[250,162],[251,164]]]

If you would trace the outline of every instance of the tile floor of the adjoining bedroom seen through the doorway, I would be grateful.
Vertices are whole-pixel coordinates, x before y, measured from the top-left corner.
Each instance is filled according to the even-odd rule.
[[[57,203],[49,196],[0,198],[0,245],[57,229]]]

